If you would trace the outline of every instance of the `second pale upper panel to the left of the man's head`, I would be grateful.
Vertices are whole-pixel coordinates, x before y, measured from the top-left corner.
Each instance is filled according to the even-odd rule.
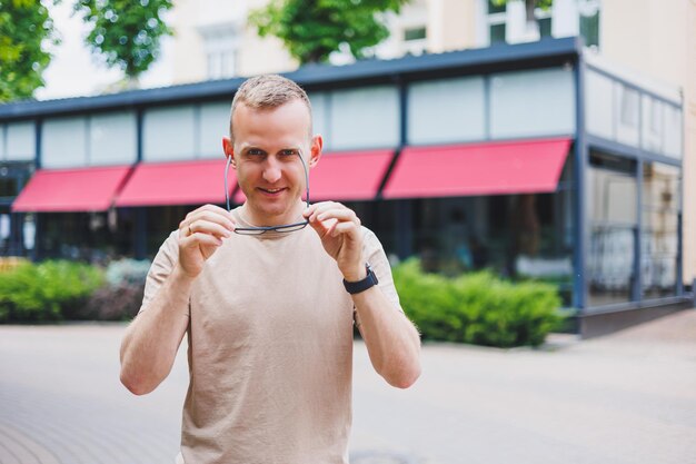
[[[196,115],[193,106],[158,108],[143,116],[142,158],[146,161],[173,161],[196,156]]]

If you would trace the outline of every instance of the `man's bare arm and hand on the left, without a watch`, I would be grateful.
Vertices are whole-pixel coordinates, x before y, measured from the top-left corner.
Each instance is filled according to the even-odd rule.
[[[191,285],[233,227],[229,213],[212,205],[189,213],[179,224],[171,273],[121,342],[121,383],[136,395],[152,392],[169,375],[189,324]]]

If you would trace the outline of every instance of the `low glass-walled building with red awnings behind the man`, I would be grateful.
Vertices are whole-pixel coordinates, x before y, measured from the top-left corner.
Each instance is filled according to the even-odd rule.
[[[325,137],[311,198],[348,204],[395,259],[554,283],[585,335],[690,302],[678,88],[575,38],[288,77]],[[223,204],[241,81],[0,107],[3,253],[153,256],[188,210]]]

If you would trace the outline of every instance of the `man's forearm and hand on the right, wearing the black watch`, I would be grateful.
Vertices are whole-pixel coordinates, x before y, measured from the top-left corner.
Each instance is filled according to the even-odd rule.
[[[325,250],[336,259],[344,278],[364,279],[365,237],[356,214],[344,205],[325,201],[307,208],[305,217],[319,235]],[[411,386],[420,376],[420,337],[416,327],[378,286],[352,295],[352,302],[377,373],[392,386]]]

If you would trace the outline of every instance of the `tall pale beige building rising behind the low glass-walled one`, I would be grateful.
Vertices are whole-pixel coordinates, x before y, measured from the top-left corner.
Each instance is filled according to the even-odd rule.
[[[230,8],[220,0],[178,0],[173,81],[297,69],[279,41],[260,39],[246,24],[247,13],[266,3],[245,0]],[[376,47],[375,56],[394,59],[581,37],[603,67],[647,87],[677,88],[685,108],[682,227],[687,239],[682,261],[684,279],[692,283],[696,279],[696,239],[692,239],[696,237],[696,4],[689,0],[554,0],[549,10],[536,8],[535,18],[527,22],[521,0],[501,7],[490,0],[412,0],[400,14],[387,16],[391,36]],[[225,53],[233,58],[226,59]],[[332,62],[342,65],[351,59],[335,53]]]

